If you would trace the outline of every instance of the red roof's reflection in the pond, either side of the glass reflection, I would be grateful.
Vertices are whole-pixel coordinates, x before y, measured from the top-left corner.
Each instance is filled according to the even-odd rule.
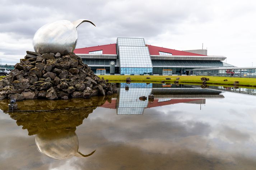
[[[148,102],[148,106],[146,108],[171,105],[171,104],[176,104],[176,103],[185,103],[185,102],[189,102],[189,101],[196,101],[196,100],[202,100],[202,99],[171,99],[170,101],[161,101],[161,102],[158,102],[158,100],[159,99],[155,99],[153,102]],[[111,103],[106,101],[100,107],[116,109],[116,99],[112,99]]]

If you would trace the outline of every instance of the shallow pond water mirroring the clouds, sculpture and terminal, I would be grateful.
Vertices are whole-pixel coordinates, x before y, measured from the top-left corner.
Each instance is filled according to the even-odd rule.
[[[0,169],[255,169],[255,89],[125,86],[13,112],[1,100]]]

